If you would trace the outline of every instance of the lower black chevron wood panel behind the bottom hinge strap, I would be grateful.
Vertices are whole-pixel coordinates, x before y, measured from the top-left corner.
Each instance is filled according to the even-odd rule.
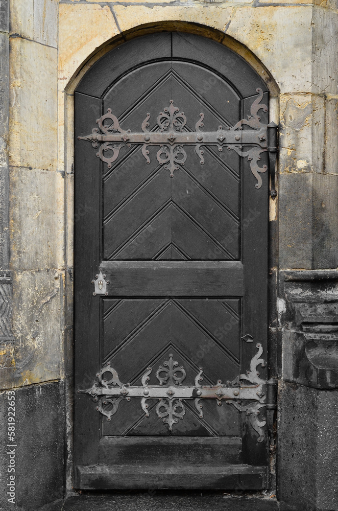
[[[204,381],[232,380],[239,370],[239,299],[104,299],[103,361],[110,361],[121,381],[140,385],[148,366],[150,385],[156,370],[173,353],[194,384],[200,366]],[[105,435],[216,436],[239,434],[239,414],[233,407],[203,403],[200,419],[187,402],[184,421],[170,432],[155,414],[144,417],[137,400],[123,402],[111,423],[103,420]],[[150,406],[156,406],[153,403]],[[191,405],[191,406],[190,406]]]

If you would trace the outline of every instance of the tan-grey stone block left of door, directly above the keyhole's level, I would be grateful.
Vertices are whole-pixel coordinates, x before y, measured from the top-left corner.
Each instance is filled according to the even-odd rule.
[[[64,177],[59,172],[10,169],[11,267],[64,267]]]

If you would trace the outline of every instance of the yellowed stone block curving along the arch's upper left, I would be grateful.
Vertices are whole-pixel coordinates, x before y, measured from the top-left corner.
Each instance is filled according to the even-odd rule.
[[[63,88],[81,64],[118,33],[108,6],[60,4],[59,80]]]

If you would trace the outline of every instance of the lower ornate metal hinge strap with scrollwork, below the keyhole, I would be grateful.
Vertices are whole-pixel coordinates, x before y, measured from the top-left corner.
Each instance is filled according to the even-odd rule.
[[[174,424],[178,420],[183,420],[186,408],[183,400],[195,400],[195,407],[200,419],[203,419],[201,399],[215,399],[219,406],[222,401],[232,404],[239,411],[250,415],[250,424],[258,433],[258,442],[264,440],[264,426],[267,424],[262,408],[266,408],[267,400],[267,381],[259,378],[257,366],[265,367],[265,361],[260,358],[263,348],[260,343],[256,344],[257,354],[252,358],[250,370],[246,375],[239,375],[234,381],[223,385],[218,380],[216,385],[201,385],[203,380],[203,369],[200,367],[199,373],[195,378],[195,385],[183,385],[186,373],[183,365],[173,360],[173,355],[169,355],[169,360],[163,362],[156,371],[156,378],[159,385],[149,385],[149,375],[152,368],[148,367],[146,373],[142,376],[141,386],[133,386],[129,383],[124,384],[119,381],[118,375],[108,362],[100,373],[96,375],[99,382],[94,382],[91,388],[78,390],[78,393],[87,393],[92,396],[93,401],[98,402],[96,410],[111,421],[112,415],[117,412],[120,401],[131,398],[141,398],[141,407],[144,413],[149,417],[148,403],[149,399],[157,399],[156,413],[168,429],[172,431]],[[107,379],[107,374],[111,378]]]

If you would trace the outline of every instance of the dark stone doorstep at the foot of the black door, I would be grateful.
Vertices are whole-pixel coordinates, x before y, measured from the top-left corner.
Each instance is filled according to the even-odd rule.
[[[223,492],[105,492],[69,496],[63,507],[39,511],[293,511],[276,499]],[[298,509],[298,511],[301,511]]]

